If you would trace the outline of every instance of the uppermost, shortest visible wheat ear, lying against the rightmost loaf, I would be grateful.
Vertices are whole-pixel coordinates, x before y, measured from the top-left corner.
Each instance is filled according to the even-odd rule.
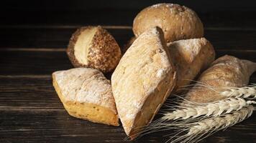
[[[256,99],[256,84],[252,84],[247,87],[230,87],[224,88],[225,91],[221,92],[220,94],[225,97],[239,97],[239,98],[249,98],[249,99]]]

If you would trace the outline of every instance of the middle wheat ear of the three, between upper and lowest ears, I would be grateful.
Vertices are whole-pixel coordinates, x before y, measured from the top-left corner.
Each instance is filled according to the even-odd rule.
[[[204,117],[217,117],[221,114],[227,114],[232,111],[242,109],[250,104],[255,104],[254,101],[245,101],[242,98],[229,98],[218,102],[210,102],[206,104],[180,104],[178,109],[173,112],[165,113],[162,117],[163,121],[175,119],[196,118],[202,115]]]

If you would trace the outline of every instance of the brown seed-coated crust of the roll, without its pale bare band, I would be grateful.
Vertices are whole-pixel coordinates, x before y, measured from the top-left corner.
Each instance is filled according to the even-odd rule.
[[[84,57],[88,63],[81,63],[75,56],[76,41],[84,30],[93,28],[96,28],[97,31],[88,47],[88,56]],[[86,47],[83,48],[86,49]],[[67,54],[73,66],[92,67],[103,72],[113,71],[122,56],[114,37],[101,26],[85,26],[78,29],[70,38]]]

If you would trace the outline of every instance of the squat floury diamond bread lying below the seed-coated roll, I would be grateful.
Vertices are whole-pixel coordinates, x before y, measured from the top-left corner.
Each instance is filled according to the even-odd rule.
[[[53,86],[73,117],[119,126],[111,84],[97,69],[55,71]]]

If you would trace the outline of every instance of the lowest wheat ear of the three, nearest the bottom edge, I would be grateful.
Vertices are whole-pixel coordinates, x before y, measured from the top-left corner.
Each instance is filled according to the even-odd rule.
[[[188,133],[180,137],[175,136],[178,138],[172,142],[198,142],[221,129],[226,129],[227,127],[231,127],[234,124],[242,122],[244,119],[247,119],[252,115],[253,109],[253,106],[250,105],[248,107],[243,107],[239,111],[225,114],[221,117],[211,117],[209,119],[204,119],[200,122],[190,124],[177,124],[178,129],[180,129],[181,132]]]

